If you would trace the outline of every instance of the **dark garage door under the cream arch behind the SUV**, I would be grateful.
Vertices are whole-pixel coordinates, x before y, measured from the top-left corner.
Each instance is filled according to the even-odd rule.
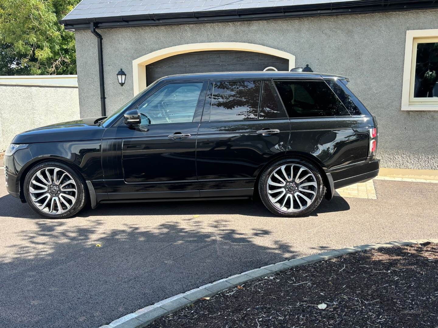
[[[146,82],[149,85],[160,77],[173,74],[262,71],[268,66],[277,70],[288,70],[289,60],[247,51],[189,52],[146,66]]]

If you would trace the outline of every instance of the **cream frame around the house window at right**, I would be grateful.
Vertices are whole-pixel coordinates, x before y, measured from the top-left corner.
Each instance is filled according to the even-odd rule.
[[[438,29],[406,31],[402,111],[438,111],[438,98],[413,98],[417,44],[438,42]]]

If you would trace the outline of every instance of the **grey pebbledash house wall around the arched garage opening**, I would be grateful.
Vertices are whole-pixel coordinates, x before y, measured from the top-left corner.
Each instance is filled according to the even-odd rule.
[[[350,89],[377,116],[382,167],[438,169],[437,111],[401,111],[407,30],[438,28],[437,10],[269,21],[100,29],[107,113],[133,96],[132,61],[198,42],[247,42],[296,56],[296,66],[350,78]],[[81,117],[100,113],[97,39],[76,31]],[[127,73],[123,87],[116,73]]]

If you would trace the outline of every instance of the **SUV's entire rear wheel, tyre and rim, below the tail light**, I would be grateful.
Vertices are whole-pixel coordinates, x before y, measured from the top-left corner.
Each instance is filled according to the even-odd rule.
[[[283,159],[267,167],[258,188],[262,202],[279,216],[306,216],[324,196],[318,168],[301,159]]]

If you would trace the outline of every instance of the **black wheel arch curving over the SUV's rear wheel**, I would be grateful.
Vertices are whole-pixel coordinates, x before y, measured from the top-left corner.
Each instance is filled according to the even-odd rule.
[[[257,172],[257,176],[255,179],[255,184],[254,184],[254,196],[258,196],[258,183],[260,181],[260,177],[261,174],[263,173],[263,171],[265,171],[265,169],[267,167],[269,167],[270,165],[272,165],[273,163],[277,162],[277,161],[281,161],[285,158],[297,158],[297,159],[303,159],[305,161],[309,161],[311,164],[313,164],[316,168],[318,168],[319,173],[321,174],[321,178],[322,181],[324,182],[324,187],[325,187],[325,198],[326,199],[332,199],[333,194],[335,192],[334,188],[333,188],[333,180],[330,174],[325,173],[325,165],[321,162],[321,160],[319,160],[318,157],[312,155],[312,154],[307,154],[307,153],[302,153],[302,152],[298,152],[298,151],[293,151],[293,152],[287,152],[286,154],[278,154],[276,156],[271,157],[271,159],[265,164],[263,165],[259,171]]]

